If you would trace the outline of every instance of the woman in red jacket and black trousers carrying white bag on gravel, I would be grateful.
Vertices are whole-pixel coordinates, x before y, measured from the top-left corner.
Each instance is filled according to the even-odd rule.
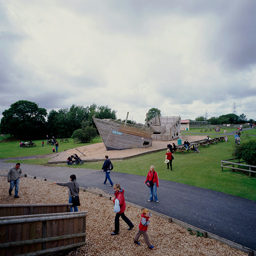
[[[119,219],[121,218],[126,222],[129,226],[128,230],[131,230],[134,227],[134,224],[124,215],[124,211],[126,208],[126,203],[124,200],[124,190],[120,187],[118,183],[114,184],[115,196],[110,198],[114,202],[114,212],[116,212],[115,217],[115,229],[114,232],[111,233],[112,236],[118,235],[119,233]]]

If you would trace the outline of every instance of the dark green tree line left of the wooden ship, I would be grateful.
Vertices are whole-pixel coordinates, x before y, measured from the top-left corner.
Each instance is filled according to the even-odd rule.
[[[39,108],[35,102],[19,100],[2,114],[1,133],[8,132],[22,140],[42,139],[46,135],[70,138],[74,137],[76,134],[72,136],[73,133],[79,129],[82,129],[82,133],[90,130],[90,134],[95,135],[97,130],[93,116],[116,120],[116,110],[112,110],[109,106],[97,106],[95,103],[86,107],[73,104],[70,108],[51,110],[47,114],[46,109]]]

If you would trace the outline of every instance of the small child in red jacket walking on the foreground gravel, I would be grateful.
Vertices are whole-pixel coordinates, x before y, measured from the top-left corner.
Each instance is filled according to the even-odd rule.
[[[140,224],[139,224],[139,230],[134,238],[134,243],[135,244],[140,244],[140,242],[138,242],[140,235],[143,236],[147,246],[149,249],[153,249],[155,246],[152,245],[149,240],[148,240],[148,234],[147,234],[147,229],[148,229],[148,225],[151,219],[151,213],[149,213],[148,209],[143,209],[142,210],[142,214],[141,214],[141,220],[140,220]]]

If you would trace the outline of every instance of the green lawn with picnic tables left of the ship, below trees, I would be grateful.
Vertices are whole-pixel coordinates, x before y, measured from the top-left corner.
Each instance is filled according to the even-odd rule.
[[[58,140],[60,141],[60,140]],[[1,142],[1,140],[0,140]],[[35,146],[28,146],[27,148],[20,148],[20,142],[2,142],[0,143],[0,158],[9,158],[9,157],[20,157],[20,156],[35,156],[35,155],[45,155],[52,153],[52,144],[46,144],[44,140],[44,146],[42,147],[42,140],[34,140],[36,143]],[[73,139],[69,138],[69,142],[62,142],[58,148],[58,152],[62,152],[71,148],[78,148],[81,146],[86,146],[90,144],[95,144],[102,142],[101,138],[94,138],[93,142],[90,143],[73,143]],[[54,146],[55,148],[55,146]]]

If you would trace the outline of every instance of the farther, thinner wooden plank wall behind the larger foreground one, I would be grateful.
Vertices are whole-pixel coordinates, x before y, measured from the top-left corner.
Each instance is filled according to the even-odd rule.
[[[0,204],[0,217],[70,212],[72,204]]]

